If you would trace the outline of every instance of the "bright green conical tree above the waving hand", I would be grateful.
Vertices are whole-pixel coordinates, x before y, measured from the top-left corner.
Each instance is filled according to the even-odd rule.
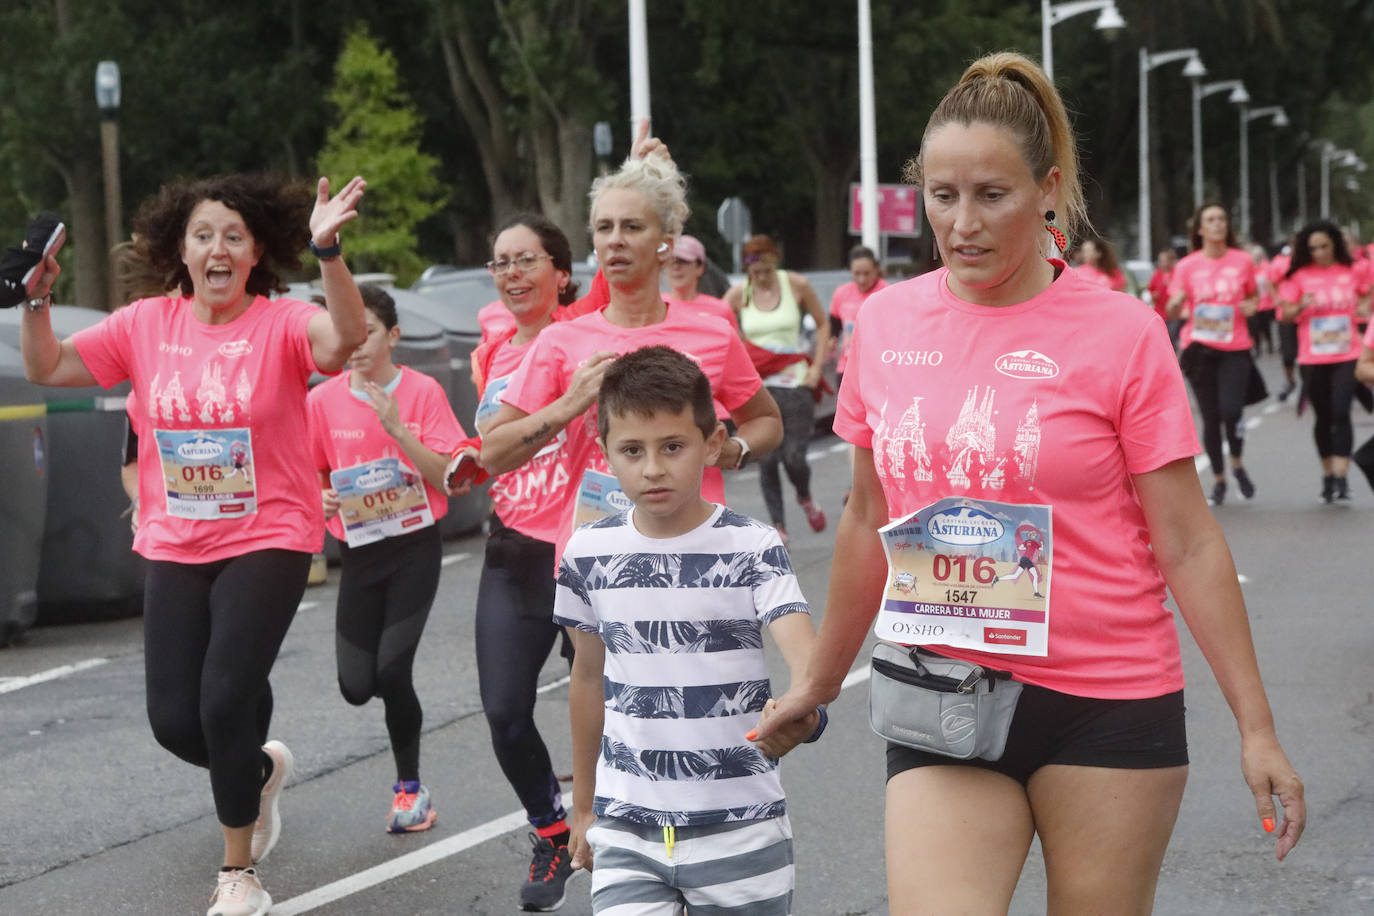
[[[354,26],[334,67],[328,100],[337,111],[320,174],[341,188],[367,179],[367,198],[348,232],[349,260],[359,271],[387,271],[408,286],[423,268],[416,227],[442,203],[434,177],[438,159],[420,151],[420,122],[396,77],[396,58],[365,25]]]

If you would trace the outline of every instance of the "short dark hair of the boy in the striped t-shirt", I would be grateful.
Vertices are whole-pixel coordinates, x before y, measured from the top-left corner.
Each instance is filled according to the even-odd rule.
[[[710,380],[691,358],[666,346],[646,346],[611,363],[596,397],[596,433],[606,439],[610,416],[655,411],[680,413],[691,408],[703,438],[716,431]]]

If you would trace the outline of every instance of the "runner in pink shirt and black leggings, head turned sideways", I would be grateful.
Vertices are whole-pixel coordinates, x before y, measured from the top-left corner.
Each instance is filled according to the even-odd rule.
[[[401,341],[396,302],[368,283],[360,291],[367,341],[346,372],[311,391],[306,408],[326,525],[342,562],[339,691],[354,706],[382,699],[396,762],[386,831],[408,834],[436,818],[420,783],[425,713],[412,666],[438,593],[444,468],[463,428],[438,382],[392,363]]]

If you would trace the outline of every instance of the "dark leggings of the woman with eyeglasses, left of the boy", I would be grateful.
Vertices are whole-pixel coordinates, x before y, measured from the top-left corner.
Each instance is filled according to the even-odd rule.
[[[534,726],[539,672],[562,637],[554,623],[554,545],[506,527],[492,516],[492,537],[477,586],[477,680],[492,748],[525,808],[529,823],[548,834],[567,818],[548,748]]]

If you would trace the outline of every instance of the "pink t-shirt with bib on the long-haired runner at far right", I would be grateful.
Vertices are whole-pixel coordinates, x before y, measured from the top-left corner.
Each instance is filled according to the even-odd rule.
[[[1355,268],[1309,264],[1279,283],[1279,298],[1311,305],[1297,313],[1297,361],[1323,365],[1360,358],[1360,335],[1355,330],[1355,306],[1369,293],[1369,280]]]

